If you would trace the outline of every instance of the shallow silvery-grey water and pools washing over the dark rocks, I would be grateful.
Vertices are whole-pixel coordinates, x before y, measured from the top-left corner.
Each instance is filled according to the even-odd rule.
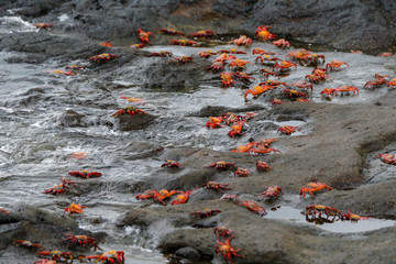
[[[16,16],[0,19],[0,34],[18,34],[18,32],[34,30],[31,24]],[[280,58],[294,50],[282,51],[271,44],[254,43],[251,48],[238,48],[244,50],[249,54],[237,56],[254,62],[255,55],[252,55],[251,52],[255,47],[275,51],[280,54]],[[228,48],[234,48],[234,46],[211,47],[212,51]],[[151,46],[146,50],[151,52],[169,51],[176,56],[182,56],[194,55],[208,48]],[[367,103],[369,106],[388,91],[386,87],[375,90],[361,88],[366,81],[373,79],[374,74],[392,76],[393,73],[385,68],[392,58],[339,52],[321,54],[328,62],[341,59],[348,62],[351,67],[331,73],[330,75],[334,77],[332,81],[315,85],[311,98],[314,101],[327,101],[320,97],[320,91],[324,87],[334,88],[346,84],[356,86],[361,91],[360,95],[338,96],[331,102],[328,101],[329,103]],[[270,108],[263,97],[246,101],[243,98],[244,90],[241,88],[220,88],[220,80],[218,86],[201,84],[196,89],[170,92],[144,89],[140,84],[125,80],[121,76],[109,80],[107,85],[120,85],[123,87],[123,96],[145,100],[147,103],[140,108],[157,113],[160,118],[151,125],[150,130],[120,132],[100,121],[96,122],[99,117],[102,120],[110,120],[111,113],[130,106],[127,100],[119,97],[120,89],[113,91],[98,89],[92,81],[95,77],[88,78],[84,73],[69,77],[51,74],[48,70],[63,69],[66,66],[54,59],[38,65],[7,63],[7,59],[13,56],[21,56],[21,54],[2,52],[0,56],[0,65],[3,69],[0,72],[0,207],[12,211],[14,204],[29,201],[30,205],[64,213],[65,205],[70,202],[88,206],[84,215],[76,218],[80,228],[106,232],[109,237],[105,244],[100,244],[100,248],[103,251],[125,251],[125,263],[166,262],[164,256],[154,250],[155,241],[164,235],[164,233],[157,233],[158,230],[168,232],[172,229],[165,223],[164,227],[157,227],[157,230],[148,230],[148,235],[143,235],[139,229],[119,230],[114,227],[116,219],[123,211],[140,205],[134,199],[134,195],[120,191],[119,184],[132,184],[150,177],[151,172],[157,169],[162,163],[151,158],[138,161],[125,158],[133,154],[131,148],[127,147],[129,143],[150,141],[165,146],[229,151],[237,145],[245,144],[248,139],[244,136],[230,139],[227,136],[229,128],[207,130],[205,128],[207,118],[191,117],[190,113],[206,106],[238,108],[263,105]],[[81,62],[70,62],[69,64]],[[257,63],[248,66],[246,73],[253,74],[257,79],[251,86],[260,82],[258,70],[261,68],[263,66]],[[301,80],[311,69],[311,67],[298,66],[297,70],[293,70],[282,81]],[[111,106],[114,107],[111,108]],[[58,118],[67,109],[86,114],[85,119],[89,125],[87,128],[59,127]],[[267,122],[273,123],[274,129],[255,134],[257,139],[276,135],[276,129],[279,125],[301,125],[304,128],[307,124],[307,122],[298,120],[287,122],[268,120]],[[307,133],[309,131],[301,130],[294,133],[293,136]],[[72,158],[73,153],[77,152],[86,153],[87,158]],[[84,194],[79,197],[52,197],[42,193],[57,184],[62,176],[67,176],[67,172],[81,169],[103,173],[101,178],[89,182],[76,179],[82,184],[100,183],[95,194]],[[301,222],[296,210],[283,206],[276,212],[270,212],[267,217]],[[101,221],[92,223],[90,219],[94,218],[100,218]],[[372,230],[367,226],[378,229],[388,227],[388,224],[387,221],[373,219],[351,224],[345,222],[334,223],[334,226],[323,224],[319,228],[332,232],[361,232]],[[16,257],[18,252],[14,253],[15,255],[10,254],[6,257]]]

